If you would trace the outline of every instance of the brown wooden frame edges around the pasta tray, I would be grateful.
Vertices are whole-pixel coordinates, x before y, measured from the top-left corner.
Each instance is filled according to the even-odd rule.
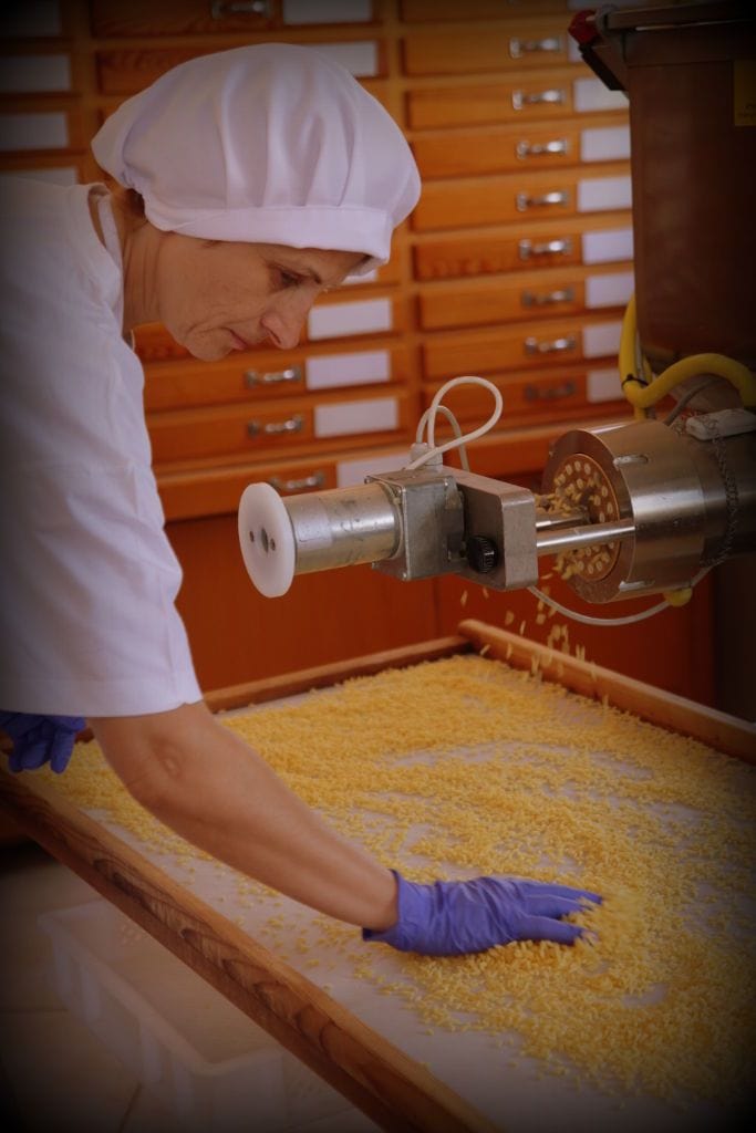
[[[756,763],[755,726],[474,620],[461,622],[457,637],[235,685],[206,701],[214,712],[263,704],[473,650],[537,666],[545,680]],[[54,790],[0,770],[0,810],[382,1128],[493,1133],[487,1118],[424,1066]]]

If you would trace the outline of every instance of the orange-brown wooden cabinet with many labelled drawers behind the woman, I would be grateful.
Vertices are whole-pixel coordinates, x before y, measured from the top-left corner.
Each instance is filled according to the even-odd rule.
[[[627,101],[581,62],[568,34],[575,3],[59,0],[28,6],[39,26],[26,6],[7,7],[5,172],[96,180],[88,142],[122,99],[195,56],[282,40],[347,66],[421,169],[421,203],[391,262],[324,297],[296,349],[205,364],[161,326],[136,335],[203,685],[434,637],[470,613],[502,623],[516,611],[516,629],[525,620],[542,636],[530,595],[486,598],[453,578],[402,585],[358,568],[264,599],[241,565],[236,509],[250,482],[286,495],[401,467],[421,414],[458,374],[485,374],[504,400],[496,429],[470,450],[474,470],[533,488],[567,428],[630,419],[615,364],[632,290]],[[490,400],[456,389],[449,404],[473,428]],[[450,435],[444,420],[439,434]],[[691,661],[706,655],[705,602],[621,634],[571,628],[571,640],[705,697]]]

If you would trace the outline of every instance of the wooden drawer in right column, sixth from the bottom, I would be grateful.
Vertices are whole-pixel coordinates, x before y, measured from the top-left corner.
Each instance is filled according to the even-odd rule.
[[[619,114],[559,126],[501,126],[494,129],[447,130],[413,139],[424,179],[476,177],[530,169],[560,169],[630,157],[630,130]]]

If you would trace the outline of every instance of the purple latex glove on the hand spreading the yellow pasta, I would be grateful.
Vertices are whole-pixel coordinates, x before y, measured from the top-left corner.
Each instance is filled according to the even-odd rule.
[[[428,956],[485,952],[512,940],[574,944],[583,929],[559,918],[601,902],[597,893],[587,889],[512,877],[416,885],[396,870],[393,875],[399,886],[399,920],[384,932],[363,929],[363,939]]]

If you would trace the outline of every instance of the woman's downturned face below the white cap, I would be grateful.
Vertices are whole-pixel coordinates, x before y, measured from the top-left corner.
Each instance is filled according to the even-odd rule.
[[[315,299],[342,283],[364,258],[354,252],[167,233],[158,259],[159,318],[203,361],[262,342],[290,350]]]

